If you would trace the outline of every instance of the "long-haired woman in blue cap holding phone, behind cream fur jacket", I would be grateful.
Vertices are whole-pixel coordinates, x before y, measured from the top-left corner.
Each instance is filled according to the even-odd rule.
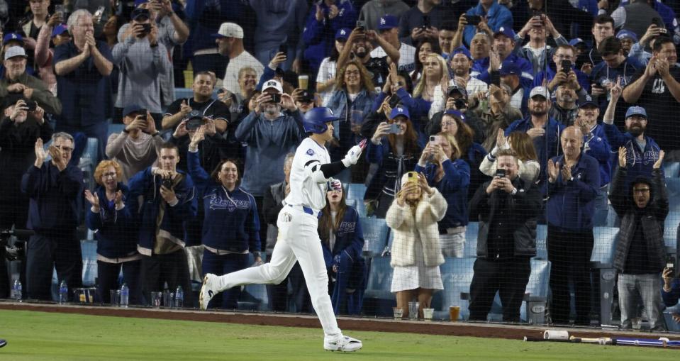
[[[401,189],[402,174],[413,170],[420,157],[418,135],[409,120],[408,109],[396,106],[389,121],[380,123],[368,143],[366,160],[378,165],[369,183],[364,202],[374,216],[385,218],[394,195]]]

